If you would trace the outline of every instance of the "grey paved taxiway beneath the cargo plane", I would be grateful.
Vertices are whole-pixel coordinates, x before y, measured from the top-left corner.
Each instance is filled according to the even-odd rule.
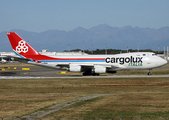
[[[61,74],[61,70],[50,69],[44,67],[29,67],[30,70],[22,70],[17,67],[17,70],[0,71],[0,79],[46,79],[46,78],[154,78],[154,77],[169,77],[169,75],[100,75],[100,76],[82,76],[81,74]],[[159,69],[168,69],[169,66],[164,66]]]

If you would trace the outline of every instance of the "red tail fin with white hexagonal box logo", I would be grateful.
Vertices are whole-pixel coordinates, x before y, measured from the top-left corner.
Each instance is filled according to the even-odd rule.
[[[28,56],[40,55],[40,53],[38,53],[32,46],[30,46],[15,32],[8,32],[7,36],[11,43],[13,51],[20,57],[28,58]]]

